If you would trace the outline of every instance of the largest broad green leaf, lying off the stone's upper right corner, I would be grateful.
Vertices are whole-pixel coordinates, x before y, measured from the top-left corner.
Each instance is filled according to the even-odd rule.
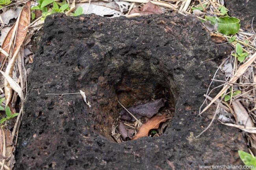
[[[224,16],[218,18],[216,16],[205,16],[205,19],[210,20],[213,25],[217,24],[217,31],[225,35],[234,35],[240,28],[240,20],[235,17]]]

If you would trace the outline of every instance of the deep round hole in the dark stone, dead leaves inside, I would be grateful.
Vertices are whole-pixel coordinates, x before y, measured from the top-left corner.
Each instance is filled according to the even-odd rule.
[[[93,82],[100,86],[97,93],[100,98],[96,101],[101,101],[91,110],[96,113],[91,117],[96,133],[117,143],[164,133],[174,112],[175,100],[169,79],[163,75],[123,70],[115,74],[115,78],[108,74]]]

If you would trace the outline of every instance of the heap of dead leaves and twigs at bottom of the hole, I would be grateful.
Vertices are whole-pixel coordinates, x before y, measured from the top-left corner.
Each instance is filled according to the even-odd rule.
[[[132,113],[137,120],[139,119],[139,122],[143,122],[142,125],[125,109],[122,110],[120,116],[112,126],[111,136],[117,143],[121,143],[140,137],[158,137],[163,134],[168,126],[167,120],[171,119],[171,109],[163,108],[165,103],[166,100],[161,98],[129,108],[128,111]]]

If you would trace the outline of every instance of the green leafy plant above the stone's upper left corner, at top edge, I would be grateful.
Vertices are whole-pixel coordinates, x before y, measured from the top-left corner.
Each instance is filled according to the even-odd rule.
[[[65,10],[69,10],[69,4],[65,1],[62,3],[57,3],[54,0],[38,0],[38,5],[31,7],[31,10],[40,10],[42,11],[41,20],[45,20],[46,16],[53,13],[64,13]],[[35,13],[31,13],[32,20],[35,19]]]

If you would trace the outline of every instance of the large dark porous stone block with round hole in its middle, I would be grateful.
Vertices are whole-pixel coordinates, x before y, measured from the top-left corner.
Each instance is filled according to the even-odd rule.
[[[236,128],[198,116],[217,60],[217,46],[194,16],[134,18],[50,15],[28,77],[16,170],[195,170],[239,165],[246,150]],[[209,60],[213,59],[213,60]],[[80,94],[85,92],[91,108]],[[175,113],[160,137],[115,143],[122,107],[165,98]]]

